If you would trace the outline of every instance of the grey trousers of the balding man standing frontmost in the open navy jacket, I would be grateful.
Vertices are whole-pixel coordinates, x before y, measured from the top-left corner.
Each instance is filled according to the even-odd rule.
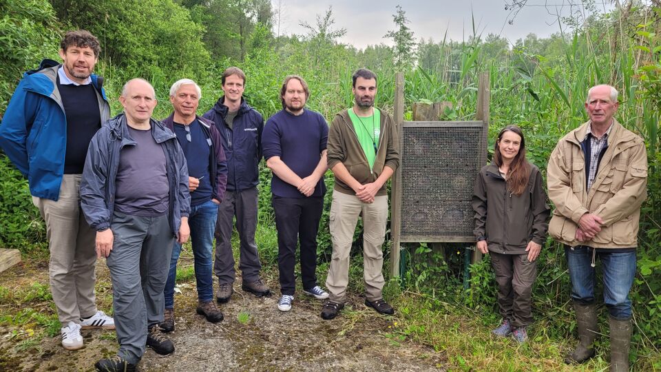
[[[174,234],[167,215],[140,217],[117,211],[110,229],[114,240],[106,262],[112,278],[117,354],[137,364],[145,353],[147,327],[163,321]]]

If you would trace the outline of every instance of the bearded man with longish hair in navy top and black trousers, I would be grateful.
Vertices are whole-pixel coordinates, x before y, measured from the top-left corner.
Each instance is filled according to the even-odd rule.
[[[328,124],[322,114],[305,110],[310,96],[301,76],[287,76],[280,99],[283,110],[269,118],[262,134],[266,166],[273,171],[271,192],[277,227],[280,311],[294,299],[297,240],[301,246],[303,292],[320,300],[328,293],[317,285],[317,231],[324,208]]]

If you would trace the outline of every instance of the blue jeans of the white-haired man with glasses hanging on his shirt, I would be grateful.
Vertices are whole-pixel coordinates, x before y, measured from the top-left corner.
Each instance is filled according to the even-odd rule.
[[[195,280],[200,302],[213,300],[213,278],[211,276],[213,260],[211,251],[213,250],[213,231],[216,230],[216,218],[218,218],[218,204],[211,200],[207,203],[191,206],[188,225],[191,228]],[[170,260],[170,271],[165,283],[165,309],[174,308],[174,282],[177,276],[177,261],[180,253],[181,245],[175,241]]]

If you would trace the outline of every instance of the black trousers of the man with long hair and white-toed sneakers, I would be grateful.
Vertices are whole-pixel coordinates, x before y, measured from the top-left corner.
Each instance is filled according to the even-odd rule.
[[[273,196],[275,227],[277,228],[277,269],[280,271],[280,291],[293,296],[296,289],[294,267],[296,247],[300,240],[301,278],[303,289],[317,286],[317,231],[322,219],[324,198],[282,198]]]

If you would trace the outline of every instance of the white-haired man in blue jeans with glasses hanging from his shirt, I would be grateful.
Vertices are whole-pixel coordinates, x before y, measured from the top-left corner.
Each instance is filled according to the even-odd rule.
[[[170,88],[174,112],[162,121],[177,136],[188,164],[191,192],[191,227],[195,279],[198,288],[197,313],[209,322],[220,322],[222,312],[213,301],[213,232],[216,230],[218,205],[227,185],[227,162],[222,139],[213,121],[196,114],[202,98],[200,86],[191,79],[181,79]],[[181,245],[174,242],[170,272],[165,284],[165,320],[160,328],[174,331],[174,284]]]

